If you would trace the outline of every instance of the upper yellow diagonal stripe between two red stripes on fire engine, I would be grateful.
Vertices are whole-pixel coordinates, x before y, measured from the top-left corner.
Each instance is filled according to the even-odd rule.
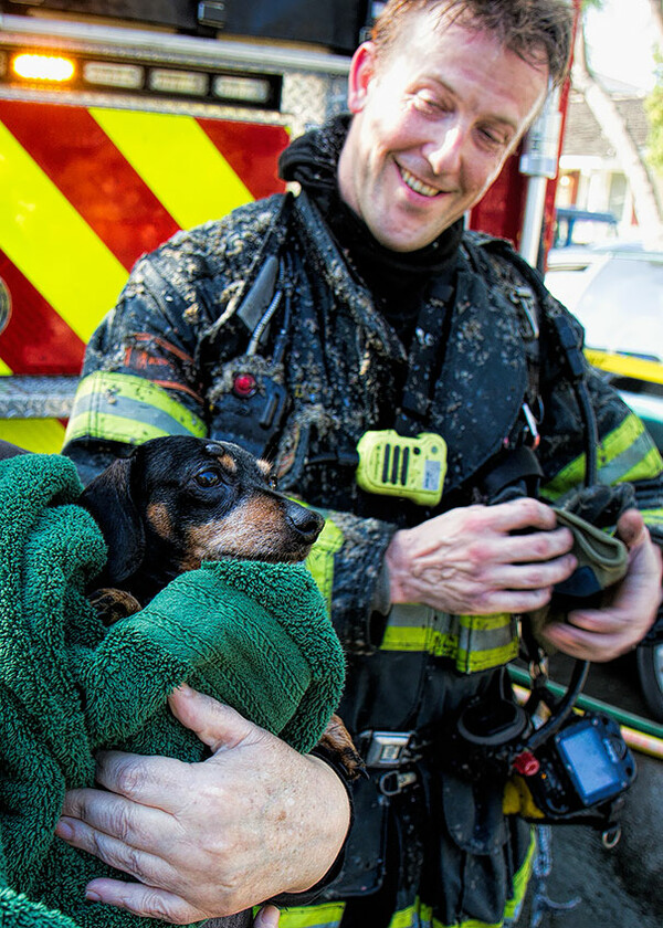
[[[193,117],[125,109],[90,113],[182,229],[253,199]]]

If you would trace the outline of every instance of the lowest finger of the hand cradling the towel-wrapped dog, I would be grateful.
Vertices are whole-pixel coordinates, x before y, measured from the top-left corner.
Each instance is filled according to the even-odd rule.
[[[208,917],[185,899],[164,889],[155,889],[140,883],[124,883],[119,879],[93,879],[88,883],[85,898],[92,903],[106,903],[117,908],[140,915],[144,918],[160,918],[173,925],[190,925]],[[260,922],[255,922],[259,925]],[[263,922],[263,928],[278,925],[276,921]]]

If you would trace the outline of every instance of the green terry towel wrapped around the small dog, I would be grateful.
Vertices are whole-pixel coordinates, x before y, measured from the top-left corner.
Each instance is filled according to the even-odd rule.
[[[53,830],[65,790],[93,783],[98,748],[206,756],[168,711],[173,686],[187,681],[301,751],[340,698],[340,645],[302,565],[206,563],[105,628],[84,597],[106,549],[81,491],[60,455],[0,462],[1,925],[49,925],[45,909],[63,926],[145,925],[85,901],[85,884],[113,872]]]

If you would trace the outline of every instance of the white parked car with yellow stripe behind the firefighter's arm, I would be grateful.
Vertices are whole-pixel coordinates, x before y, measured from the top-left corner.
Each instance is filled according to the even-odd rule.
[[[556,249],[546,285],[582,323],[587,356],[663,451],[663,253],[604,243]],[[639,647],[642,694],[663,721],[663,644]]]

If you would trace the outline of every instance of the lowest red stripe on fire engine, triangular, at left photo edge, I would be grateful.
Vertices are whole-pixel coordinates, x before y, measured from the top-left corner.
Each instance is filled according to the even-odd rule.
[[[14,373],[80,373],[83,341],[2,250],[0,277],[12,304],[7,328],[0,334],[0,358]]]

